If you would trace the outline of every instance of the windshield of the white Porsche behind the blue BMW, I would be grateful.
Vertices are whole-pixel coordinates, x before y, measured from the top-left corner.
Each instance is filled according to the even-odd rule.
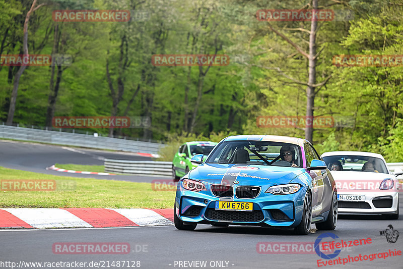
[[[382,159],[360,155],[334,155],[323,157],[330,171],[359,171],[388,174]]]

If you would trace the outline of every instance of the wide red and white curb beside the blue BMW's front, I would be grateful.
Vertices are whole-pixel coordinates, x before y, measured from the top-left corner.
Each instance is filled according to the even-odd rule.
[[[2,208],[0,229],[104,228],[173,225],[173,209]]]

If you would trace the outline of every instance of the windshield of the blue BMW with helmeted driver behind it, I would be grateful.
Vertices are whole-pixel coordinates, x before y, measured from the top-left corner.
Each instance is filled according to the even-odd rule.
[[[281,153],[282,154],[281,154]],[[288,162],[283,154],[288,154]],[[302,167],[301,148],[294,144],[270,141],[228,141],[220,143],[206,163]]]

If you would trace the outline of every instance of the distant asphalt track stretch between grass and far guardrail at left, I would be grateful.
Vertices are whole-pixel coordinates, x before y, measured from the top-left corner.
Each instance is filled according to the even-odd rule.
[[[81,149],[44,145],[37,143],[25,143],[1,140],[0,141],[0,166],[43,173],[55,176],[67,176],[78,178],[113,179],[132,182],[151,182],[159,177],[151,176],[102,176],[57,172],[46,170],[46,167],[58,164],[77,165],[103,165],[103,158],[127,159],[127,160],[151,160],[149,157],[139,156],[125,152],[112,152],[103,150]],[[167,179],[166,177],[160,177]],[[1,268],[1,266],[0,266]]]

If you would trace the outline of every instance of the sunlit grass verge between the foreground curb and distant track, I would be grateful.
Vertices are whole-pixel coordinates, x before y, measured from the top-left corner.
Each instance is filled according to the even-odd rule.
[[[174,191],[154,191],[151,183],[73,178],[0,167],[0,207],[172,208]],[[55,191],[4,191],[8,179],[55,180]],[[6,183],[5,183],[6,182]]]

